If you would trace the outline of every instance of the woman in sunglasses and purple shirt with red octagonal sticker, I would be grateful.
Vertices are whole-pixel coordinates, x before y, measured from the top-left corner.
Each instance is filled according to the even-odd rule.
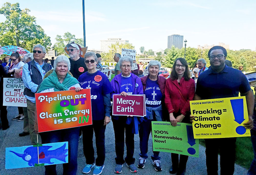
[[[88,71],[79,76],[82,88],[91,89],[92,125],[82,126],[83,153],[86,164],[83,173],[101,174],[105,161],[105,129],[110,122],[111,102],[110,93],[113,91],[108,77],[96,69],[97,56],[94,52],[84,55]],[[93,131],[97,148],[97,158],[94,158]]]

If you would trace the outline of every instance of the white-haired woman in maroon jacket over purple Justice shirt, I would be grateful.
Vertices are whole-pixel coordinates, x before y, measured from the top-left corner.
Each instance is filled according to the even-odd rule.
[[[148,63],[147,69],[149,74],[145,77],[141,77],[143,84],[143,92],[146,96],[146,109],[151,112],[149,119],[140,123],[140,158],[138,162],[139,168],[144,168],[146,159],[148,158],[148,138],[152,132],[151,122],[152,121],[163,121],[163,112],[166,112],[164,103],[164,90],[166,79],[158,75],[161,63],[156,60],[151,60]],[[156,171],[161,171],[159,151],[153,151],[151,156],[152,164]]]

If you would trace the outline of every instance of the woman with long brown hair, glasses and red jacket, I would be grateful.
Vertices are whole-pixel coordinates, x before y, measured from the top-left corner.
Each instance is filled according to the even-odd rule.
[[[184,58],[174,61],[170,78],[165,84],[165,105],[169,112],[171,127],[177,126],[177,122],[190,123],[190,104],[195,95],[195,81],[190,78],[188,64]],[[188,156],[171,153],[172,166],[170,173],[178,175],[185,174]]]

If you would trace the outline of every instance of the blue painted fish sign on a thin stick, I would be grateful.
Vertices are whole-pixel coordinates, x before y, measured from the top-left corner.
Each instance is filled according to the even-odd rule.
[[[68,142],[5,148],[5,169],[68,163]]]

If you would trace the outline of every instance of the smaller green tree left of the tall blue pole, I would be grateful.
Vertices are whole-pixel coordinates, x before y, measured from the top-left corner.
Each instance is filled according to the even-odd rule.
[[[79,44],[81,47],[83,47],[83,39],[76,39],[76,36],[72,35],[70,32],[64,33],[63,38],[61,37],[61,35],[56,35],[55,40],[56,43],[54,44],[54,50],[57,51],[58,55],[65,54],[66,52],[64,48],[68,43],[71,42],[75,42]]]

